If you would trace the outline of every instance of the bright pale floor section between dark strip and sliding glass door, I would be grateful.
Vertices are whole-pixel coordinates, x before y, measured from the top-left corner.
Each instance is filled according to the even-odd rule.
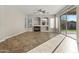
[[[55,53],[78,53],[76,40],[66,37]]]

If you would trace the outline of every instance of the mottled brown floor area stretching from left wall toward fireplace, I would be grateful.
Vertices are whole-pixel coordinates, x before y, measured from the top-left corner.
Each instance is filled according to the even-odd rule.
[[[58,35],[48,32],[25,32],[0,43],[0,52],[27,52]]]

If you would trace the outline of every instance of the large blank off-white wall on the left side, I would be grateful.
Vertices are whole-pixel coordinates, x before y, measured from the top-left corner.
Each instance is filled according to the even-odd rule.
[[[25,15],[14,6],[0,6],[0,41],[25,31]]]

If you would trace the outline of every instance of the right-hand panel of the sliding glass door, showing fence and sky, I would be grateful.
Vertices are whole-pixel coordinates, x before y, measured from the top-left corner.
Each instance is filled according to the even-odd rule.
[[[77,39],[76,33],[76,8],[67,12],[67,36]]]

